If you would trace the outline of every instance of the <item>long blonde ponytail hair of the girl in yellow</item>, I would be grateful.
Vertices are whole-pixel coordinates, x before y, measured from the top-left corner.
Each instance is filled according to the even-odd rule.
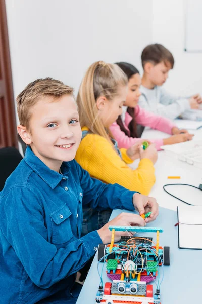
[[[112,100],[119,95],[119,89],[128,84],[128,79],[116,64],[97,61],[87,70],[77,96],[81,127],[109,140],[108,131],[98,116],[96,101],[100,96]]]

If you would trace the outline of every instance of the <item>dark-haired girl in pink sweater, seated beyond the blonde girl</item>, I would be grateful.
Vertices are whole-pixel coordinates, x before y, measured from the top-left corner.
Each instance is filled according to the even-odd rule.
[[[138,141],[144,141],[141,136],[144,127],[150,127],[168,134],[173,134],[169,138],[150,140],[156,144],[157,150],[165,144],[173,144],[191,140],[193,134],[187,130],[178,129],[171,120],[157,116],[138,106],[141,95],[139,91],[141,77],[139,71],[130,63],[119,62],[117,65],[128,77],[128,95],[123,106],[122,115],[110,127],[112,135],[117,140],[120,148],[129,148]]]

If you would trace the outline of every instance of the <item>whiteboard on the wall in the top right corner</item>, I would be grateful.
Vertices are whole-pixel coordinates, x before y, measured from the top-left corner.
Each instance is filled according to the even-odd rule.
[[[187,52],[202,52],[202,1],[184,0],[185,46]]]

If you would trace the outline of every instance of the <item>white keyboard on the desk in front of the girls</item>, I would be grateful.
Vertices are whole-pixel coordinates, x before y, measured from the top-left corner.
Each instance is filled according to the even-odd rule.
[[[202,169],[202,140],[190,140],[182,143],[176,143],[172,145],[165,145],[162,148],[169,153],[174,153],[177,158]]]

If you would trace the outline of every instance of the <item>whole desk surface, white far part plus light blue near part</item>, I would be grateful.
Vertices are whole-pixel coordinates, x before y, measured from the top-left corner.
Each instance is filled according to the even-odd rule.
[[[195,139],[202,138],[202,130],[194,131]],[[168,136],[159,131],[145,130],[142,137],[146,139],[163,138]],[[135,168],[134,162],[131,166]],[[165,151],[158,152],[158,161],[156,168],[156,183],[151,189],[150,196],[157,199],[160,208],[160,214],[156,220],[156,225],[162,226],[164,233],[160,236],[161,246],[170,246],[171,265],[165,267],[164,280],[161,287],[162,304],[181,304],[181,303],[201,303],[200,285],[201,285],[201,250],[185,250],[178,248],[177,229],[174,224],[177,222],[178,205],[184,204],[179,200],[169,196],[163,189],[163,185],[168,183],[186,183],[198,186],[202,183],[202,170],[177,160],[175,157],[166,155]],[[168,176],[181,176],[181,179],[167,179]],[[169,188],[171,192],[171,189]],[[176,186],[172,193],[181,197],[187,202],[193,203],[201,201],[201,191],[197,189],[181,189]],[[196,194],[197,193],[197,194]],[[174,210],[174,211],[173,211]],[[121,210],[114,210],[111,218],[115,217]],[[153,225],[153,223],[149,224]],[[104,282],[107,276],[104,270]],[[77,304],[93,304],[99,285],[99,276],[97,273],[97,254],[93,260],[89,274],[85,280],[84,286],[78,298]],[[108,279],[109,281],[109,279]]]

